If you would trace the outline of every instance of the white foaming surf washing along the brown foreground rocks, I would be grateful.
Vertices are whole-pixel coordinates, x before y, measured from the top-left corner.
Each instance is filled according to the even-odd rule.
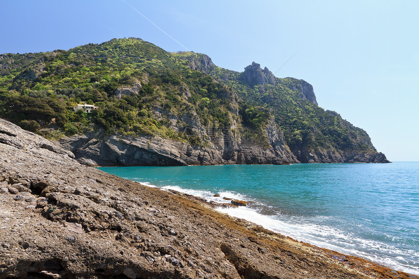
[[[159,169],[157,169],[156,171],[158,172]],[[128,171],[128,173],[129,172],[131,171]],[[119,174],[122,174],[122,173],[123,172],[119,172]],[[118,174],[118,173],[115,173],[115,174]],[[122,175],[122,176],[131,177],[129,174]],[[167,177],[170,177],[170,176],[171,176],[171,172]],[[375,241],[371,243],[370,239],[367,239],[367,238],[360,240],[359,237],[355,238],[353,237],[353,235],[351,236],[350,233],[348,233],[348,231],[351,232],[350,228],[349,230],[343,230],[342,227],[340,229],[334,229],[332,227],[333,225],[325,226],[324,223],[321,223],[321,225],[319,225],[318,227],[314,226],[315,228],[307,227],[307,223],[303,223],[303,225],[301,225],[301,222],[298,223],[297,221],[298,219],[296,218],[293,218],[291,220],[291,223],[287,223],[286,215],[284,215],[285,217],[284,216],[277,217],[275,213],[273,213],[273,211],[269,211],[269,210],[264,211],[264,208],[266,209],[267,207],[270,207],[268,205],[272,205],[272,204],[267,204],[266,202],[261,203],[260,195],[259,195],[259,200],[257,201],[250,196],[251,193],[249,192],[242,191],[241,192],[242,194],[246,193],[247,195],[240,195],[237,192],[233,191],[231,192],[232,195],[229,195],[230,193],[229,191],[226,191],[227,188],[225,187],[222,187],[221,192],[219,192],[218,190],[220,190],[220,188],[218,187],[211,188],[211,186],[208,186],[208,185],[204,187],[194,187],[191,185],[188,188],[188,183],[182,184],[182,182],[179,182],[179,181],[177,181],[178,183],[176,183],[176,181],[171,181],[168,185],[168,184],[165,184],[164,179],[163,180],[157,179],[155,181],[152,179],[150,180],[150,175],[147,176],[146,174],[144,176],[146,180],[140,179],[140,178],[143,178],[143,176],[141,175],[139,176],[137,175],[136,177],[138,177],[138,180],[143,181],[143,183],[145,183],[143,185],[145,186],[152,186],[152,187],[157,187],[160,189],[163,188],[165,191],[174,190],[181,193],[186,193],[188,195],[195,195],[196,197],[201,198],[202,201],[207,200],[207,204],[208,202],[213,201],[213,202],[210,202],[212,203],[210,205],[214,209],[216,209],[217,205],[221,205],[223,208],[226,207],[225,204],[217,204],[217,200],[222,199],[223,196],[233,198],[233,199],[238,199],[238,200],[250,201],[250,203],[248,203],[248,205],[250,206],[248,207],[239,207],[237,209],[231,209],[231,210],[221,209],[219,211],[228,213],[231,216],[234,216],[236,218],[247,219],[249,222],[262,225],[268,230],[272,230],[274,232],[283,234],[285,236],[289,236],[298,241],[307,242],[312,245],[316,245],[322,248],[333,250],[333,251],[336,251],[345,255],[360,257],[364,260],[375,262],[382,266],[386,266],[390,269],[400,270],[406,273],[414,274],[416,276],[419,275],[418,274],[419,270],[417,269],[417,265],[415,264],[415,261],[410,261],[410,262],[407,261],[407,260],[416,259],[417,255],[415,256],[414,252],[411,252],[410,254],[403,254],[402,253],[403,251],[400,252],[396,249],[398,248],[398,246],[396,245],[388,246],[389,248],[387,248],[386,246],[381,245],[381,243],[387,244],[386,242]],[[156,176],[156,177],[160,177],[160,176]],[[132,176],[132,178],[134,178],[134,176]],[[136,183],[141,184],[141,182],[139,181],[137,181]],[[152,185],[150,183],[155,184],[155,185]],[[240,190],[237,190],[237,188],[235,188],[235,191],[240,192]],[[213,194],[221,194],[221,197],[213,197]],[[247,212],[250,214],[247,214]],[[255,214],[253,214],[253,212],[255,212]],[[290,225],[290,226],[287,226],[285,224]],[[310,224],[316,224],[316,223],[310,222]],[[305,228],[307,228],[307,232],[300,233]],[[330,231],[329,228],[332,228],[332,230]],[[322,230],[325,231],[326,233],[323,234]],[[297,233],[294,234],[293,231],[296,231]],[[339,237],[336,235],[339,235]],[[334,238],[335,236],[336,236],[336,242]],[[348,236],[349,238],[347,238]],[[362,241],[362,242],[359,242],[359,241]],[[409,256],[411,256],[412,258],[409,258]],[[403,260],[406,260],[406,261],[403,262]]]

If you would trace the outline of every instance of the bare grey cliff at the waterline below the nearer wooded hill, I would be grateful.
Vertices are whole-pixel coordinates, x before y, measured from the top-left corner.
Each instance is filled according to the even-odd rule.
[[[63,149],[72,151],[78,162],[89,166],[186,166],[226,164],[298,163],[284,142],[283,132],[274,119],[266,126],[269,147],[246,141],[235,126],[232,129],[205,128],[190,121],[201,137],[210,138],[209,146],[176,142],[161,137],[105,135],[102,130],[59,141]],[[243,136],[243,138],[242,138]]]

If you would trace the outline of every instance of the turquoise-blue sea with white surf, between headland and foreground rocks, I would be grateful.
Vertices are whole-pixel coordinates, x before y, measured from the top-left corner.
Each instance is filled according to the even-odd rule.
[[[246,200],[247,207],[219,210],[419,275],[419,162],[99,169],[209,201]]]

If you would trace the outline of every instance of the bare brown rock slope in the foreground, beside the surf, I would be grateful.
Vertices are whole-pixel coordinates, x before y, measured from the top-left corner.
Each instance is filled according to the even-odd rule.
[[[73,157],[0,119],[0,278],[418,278]]]

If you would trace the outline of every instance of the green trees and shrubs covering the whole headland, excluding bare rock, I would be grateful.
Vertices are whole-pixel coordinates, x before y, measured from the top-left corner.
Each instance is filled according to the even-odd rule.
[[[301,99],[301,80],[277,78],[275,85],[251,87],[243,73],[209,60],[193,52],[168,53],[137,38],[3,54],[0,117],[49,138],[102,128],[208,146],[209,139],[185,120],[196,116],[205,127],[243,126],[251,142],[267,147],[265,128],[273,115],[295,152],[374,149],[365,131]],[[75,112],[80,102],[99,109]]]

